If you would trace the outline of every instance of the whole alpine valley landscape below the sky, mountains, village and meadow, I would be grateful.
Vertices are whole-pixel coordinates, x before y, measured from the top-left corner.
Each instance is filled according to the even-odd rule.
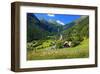
[[[27,60],[89,57],[89,16],[62,25],[27,13]]]

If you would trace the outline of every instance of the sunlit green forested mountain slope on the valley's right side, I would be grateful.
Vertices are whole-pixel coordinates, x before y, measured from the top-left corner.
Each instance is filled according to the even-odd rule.
[[[81,17],[78,20],[73,21],[72,27],[67,27],[62,34],[64,40],[68,41],[81,41],[84,38],[89,37],[89,17]],[[69,25],[69,24],[68,24]]]

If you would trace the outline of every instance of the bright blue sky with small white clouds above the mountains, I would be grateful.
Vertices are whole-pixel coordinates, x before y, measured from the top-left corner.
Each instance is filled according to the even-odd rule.
[[[44,18],[45,20],[56,20],[56,22],[64,25],[70,23],[76,19],[79,19],[81,15],[67,15],[67,14],[47,14],[47,13],[34,13],[35,16],[40,19]]]

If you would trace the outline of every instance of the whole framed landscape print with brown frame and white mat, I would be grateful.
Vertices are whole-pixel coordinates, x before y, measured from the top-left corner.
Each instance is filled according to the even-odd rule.
[[[11,3],[11,70],[97,67],[97,7]]]

